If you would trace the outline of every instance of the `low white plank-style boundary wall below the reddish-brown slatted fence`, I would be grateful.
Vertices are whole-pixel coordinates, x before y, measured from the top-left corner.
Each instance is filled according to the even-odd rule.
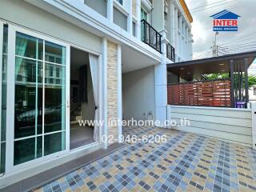
[[[251,110],[200,106],[167,108],[168,119],[177,122],[177,126],[171,128],[252,146]],[[186,118],[190,125],[180,126],[181,118]]]

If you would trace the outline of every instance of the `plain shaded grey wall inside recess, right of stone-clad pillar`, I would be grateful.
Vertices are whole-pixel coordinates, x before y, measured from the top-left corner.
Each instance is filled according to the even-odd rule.
[[[122,74],[122,107],[126,120],[155,117],[154,66]]]

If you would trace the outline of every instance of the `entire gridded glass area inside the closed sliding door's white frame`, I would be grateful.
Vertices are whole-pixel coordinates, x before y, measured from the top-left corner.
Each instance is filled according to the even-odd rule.
[[[65,150],[65,57],[65,47],[17,33],[14,165]]]

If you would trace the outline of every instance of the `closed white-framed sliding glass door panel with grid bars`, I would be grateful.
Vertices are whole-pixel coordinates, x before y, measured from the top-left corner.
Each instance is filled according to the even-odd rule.
[[[68,150],[69,46],[15,26],[9,28],[7,135],[12,139],[7,148],[13,151],[9,155],[13,169]]]

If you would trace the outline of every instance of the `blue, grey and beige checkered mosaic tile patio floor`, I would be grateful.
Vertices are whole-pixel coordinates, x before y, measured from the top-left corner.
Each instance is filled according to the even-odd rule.
[[[166,134],[166,143],[124,148],[34,191],[255,191],[256,151],[175,130],[125,128],[124,134]]]

